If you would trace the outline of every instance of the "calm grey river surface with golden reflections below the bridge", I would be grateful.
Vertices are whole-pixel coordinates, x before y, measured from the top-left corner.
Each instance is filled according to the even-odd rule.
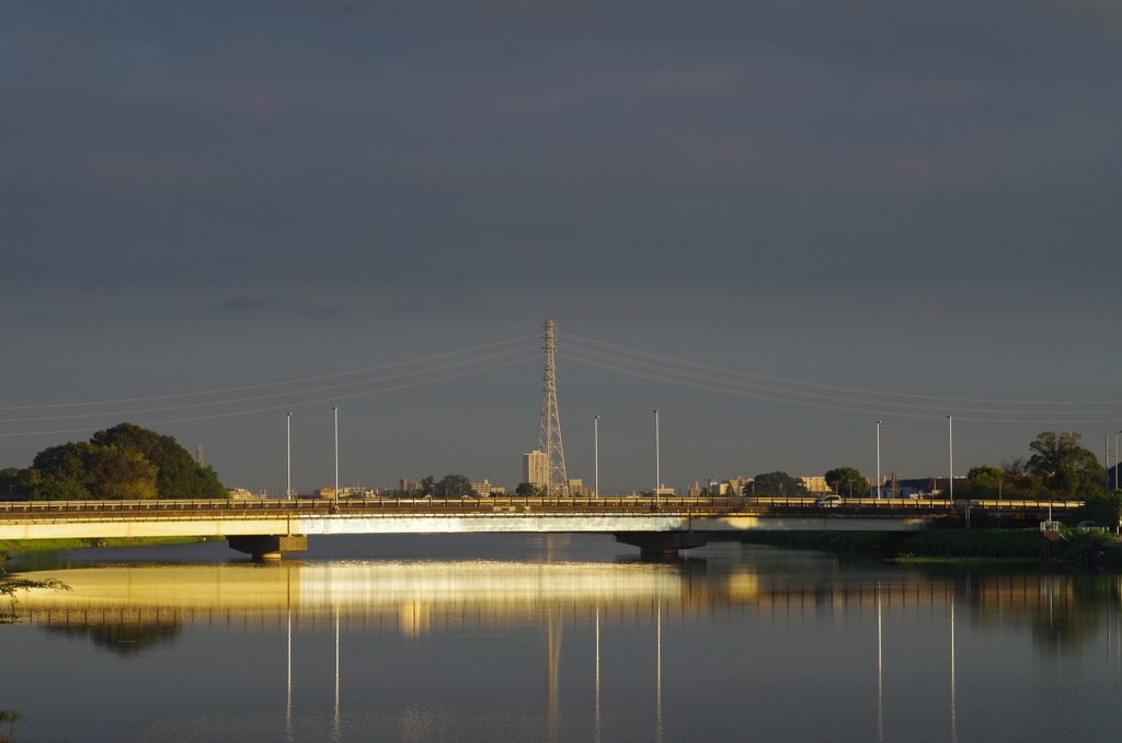
[[[1055,741],[1122,725],[1114,575],[601,536],[31,556],[27,741]],[[0,731],[2,732],[2,731]]]

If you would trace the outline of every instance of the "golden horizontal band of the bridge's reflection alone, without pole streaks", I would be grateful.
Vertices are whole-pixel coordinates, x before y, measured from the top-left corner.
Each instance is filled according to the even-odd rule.
[[[58,577],[72,593],[34,593],[20,613],[34,624],[295,626],[321,630],[338,617],[348,631],[430,633],[540,626],[541,617],[565,626],[598,622],[650,626],[659,612],[675,625],[701,622],[737,607],[764,625],[844,622],[946,611],[959,590],[980,622],[1003,626],[1041,617],[1056,625],[1075,604],[1079,580],[1066,575],[938,577],[880,572],[848,580],[763,577],[745,569],[710,569],[705,560],[672,563],[526,563],[500,561],[302,561],[229,565],[99,566],[39,571]],[[1101,593],[1101,591],[1096,591]],[[1114,593],[1114,591],[1112,591]],[[1083,596],[1082,600],[1093,600]],[[661,607],[661,609],[659,609]],[[1057,635],[1061,637],[1063,634]]]

